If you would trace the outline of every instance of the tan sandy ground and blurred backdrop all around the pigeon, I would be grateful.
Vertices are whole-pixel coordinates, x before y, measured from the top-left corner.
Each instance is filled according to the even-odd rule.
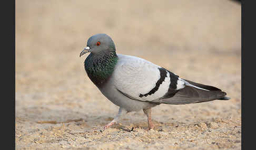
[[[106,33],[118,53],[214,85],[229,101],[128,113],[88,79],[79,58]],[[16,149],[241,149],[241,5],[232,1],[16,1]],[[132,128],[132,132],[122,128]]]

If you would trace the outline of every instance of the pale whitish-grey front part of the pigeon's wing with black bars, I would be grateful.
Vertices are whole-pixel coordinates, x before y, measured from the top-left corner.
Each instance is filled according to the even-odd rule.
[[[170,74],[173,73],[142,58],[117,56],[119,60],[113,72],[112,81],[116,89],[127,97],[153,101],[170,92],[171,81],[173,81],[170,80]],[[185,82],[176,76],[175,86],[173,90],[182,89],[185,87]]]

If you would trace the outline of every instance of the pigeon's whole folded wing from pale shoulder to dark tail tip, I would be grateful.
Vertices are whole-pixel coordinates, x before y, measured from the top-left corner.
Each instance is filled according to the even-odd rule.
[[[144,59],[126,55],[118,57],[113,82],[116,89],[130,99],[165,104],[229,99],[218,88],[181,79]]]

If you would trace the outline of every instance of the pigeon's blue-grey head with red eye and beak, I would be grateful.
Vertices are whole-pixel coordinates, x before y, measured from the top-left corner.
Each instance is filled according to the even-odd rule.
[[[96,34],[88,39],[86,47],[80,53],[80,57],[87,52],[91,52],[94,55],[104,55],[110,51],[115,51],[114,41],[110,36],[106,34]]]

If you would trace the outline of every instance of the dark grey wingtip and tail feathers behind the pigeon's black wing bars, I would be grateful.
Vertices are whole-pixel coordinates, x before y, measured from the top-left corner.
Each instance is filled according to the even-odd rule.
[[[212,87],[210,85],[195,83],[189,80],[185,80],[185,81],[189,82],[195,87],[186,85],[185,88],[179,90],[173,97],[168,99],[162,99],[160,100],[160,102],[164,104],[189,104],[189,103],[208,102],[213,100],[229,100],[230,99],[229,97],[225,96],[227,95],[227,93],[221,91],[218,88]],[[199,87],[199,88],[196,88],[196,87]]]

